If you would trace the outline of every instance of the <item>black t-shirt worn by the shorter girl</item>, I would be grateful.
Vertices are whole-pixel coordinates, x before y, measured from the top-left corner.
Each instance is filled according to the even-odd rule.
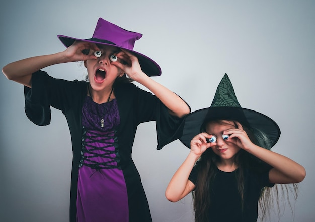
[[[189,176],[189,180],[194,184],[197,181],[197,169],[198,163]],[[261,189],[265,186],[273,187],[274,184],[269,183],[269,171],[257,173],[246,169],[244,172],[244,211],[242,213],[241,196],[235,176],[238,170],[223,172],[216,168],[216,176],[210,190],[209,218],[211,222],[257,221]]]

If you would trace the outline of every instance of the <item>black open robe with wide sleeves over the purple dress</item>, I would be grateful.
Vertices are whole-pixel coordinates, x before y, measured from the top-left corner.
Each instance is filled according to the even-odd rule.
[[[50,106],[65,115],[72,142],[72,172],[70,189],[70,221],[76,220],[78,169],[82,151],[82,107],[87,96],[85,81],[67,81],[38,71],[32,75],[32,88],[24,87],[25,112],[35,124],[50,124]],[[120,124],[117,129],[119,165],[127,188],[129,221],[152,221],[140,175],[131,158],[132,145],[140,123],[156,121],[157,149],[181,136],[183,118],[169,114],[167,107],[152,93],[132,83],[114,85]]]

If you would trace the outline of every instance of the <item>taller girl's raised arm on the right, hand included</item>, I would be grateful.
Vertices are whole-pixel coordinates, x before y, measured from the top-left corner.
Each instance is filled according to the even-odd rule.
[[[122,52],[123,53],[118,53],[117,56],[123,60],[130,60],[129,63],[124,65],[119,62],[115,62],[113,63],[114,65],[124,70],[130,78],[154,93],[156,97],[159,98],[166,107],[168,107],[171,114],[177,117],[183,117],[190,113],[190,108],[183,99],[142,72],[136,56],[125,50],[122,50]],[[126,55],[128,59],[126,59]]]

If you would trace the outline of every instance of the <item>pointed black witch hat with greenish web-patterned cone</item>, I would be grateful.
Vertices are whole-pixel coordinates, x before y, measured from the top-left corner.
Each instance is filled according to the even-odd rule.
[[[280,137],[280,128],[275,121],[264,114],[241,107],[227,74],[218,85],[211,106],[196,110],[186,117],[180,141],[190,148],[191,139],[205,132],[204,125],[210,120],[235,120],[249,129],[258,129],[269,137],[271,147]]]

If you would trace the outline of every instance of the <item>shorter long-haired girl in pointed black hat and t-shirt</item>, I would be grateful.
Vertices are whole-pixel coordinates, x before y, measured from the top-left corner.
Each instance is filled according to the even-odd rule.
[[[256,221],[258,202],[264,218],[271,191],[278,190],[272,187],[293,183],[296,197],[295,183],[305,177],[301,165],[270,151],[279,136],[272,119],[240,106],[225,74],[211,107],[185,120],[180,140],[191,151],[171,179],[167,199],[176,202],[192,192],[198,222]]]

